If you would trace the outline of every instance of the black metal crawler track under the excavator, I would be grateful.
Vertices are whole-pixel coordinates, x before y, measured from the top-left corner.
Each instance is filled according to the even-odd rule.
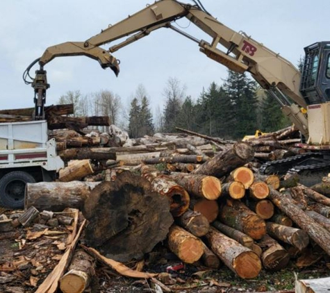
[[[330,172],[329,153],[304,153],[283,160],[266,162],[260,168],[261,174],[299,174],[299,182],[311,186],[322,181]]]

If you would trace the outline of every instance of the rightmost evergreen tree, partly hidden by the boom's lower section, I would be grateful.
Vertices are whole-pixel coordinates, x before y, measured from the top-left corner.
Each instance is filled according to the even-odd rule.
[[[261,131],[277,131],[289,125],[290,120],[283,115],[279,103],[266,92],[261,102]]]

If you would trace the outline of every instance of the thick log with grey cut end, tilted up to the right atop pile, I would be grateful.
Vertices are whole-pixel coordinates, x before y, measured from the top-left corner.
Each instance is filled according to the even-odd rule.
[[[198,169],[192,171],[192,174],[204,174],[221,178],[237,167],[245,165],[252,160],[254,156],[253,148],[245,143],[238,142],[233,147],[222,151],[217,156],[208,160]]]

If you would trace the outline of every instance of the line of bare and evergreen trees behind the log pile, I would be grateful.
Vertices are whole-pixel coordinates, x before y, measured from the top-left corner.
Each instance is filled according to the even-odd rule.
[[[126,129],[130,137],[142,137],[156,132],[174,133],[176,126],[201,134],[224,139],[242,139],[263,132],[276,131],[290,125],[277,101],[245,74],[228,70],[224,82],[211,83],[199,97],[185,94],[185,87],[177,78],[169,78],[163,90],[165,104],[158,106],[153,118],[150,97],[139,85],[125,113],[117,94],[101,90],[92,97],[81,92],[67,92],[58,103],[74,103],[76,116],[108,116],[113,124]],[[119,121],[124,117],[124,121]]]

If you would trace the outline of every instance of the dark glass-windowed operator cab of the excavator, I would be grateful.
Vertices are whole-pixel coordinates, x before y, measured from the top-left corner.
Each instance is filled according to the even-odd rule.
[[[300,92],[307,105],[330,102],[330,42],[304,48]]]

